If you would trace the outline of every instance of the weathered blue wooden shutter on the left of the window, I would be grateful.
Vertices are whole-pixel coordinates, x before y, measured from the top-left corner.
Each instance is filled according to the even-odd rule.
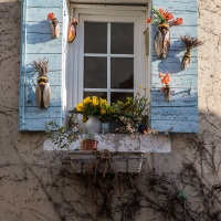
[[[59,19],[61,34],[52,39],[48,13],[53,12]],[[62,29],[63,0],[23,0],[21,22],[21,65],[20,65],[20,103],[19,129],[45,130],[50,120],[62,124]],[[49,59],[49,82],[51,85],[51,104],[46,109],[35,103],[38,73],[32,65],[34,60]]]

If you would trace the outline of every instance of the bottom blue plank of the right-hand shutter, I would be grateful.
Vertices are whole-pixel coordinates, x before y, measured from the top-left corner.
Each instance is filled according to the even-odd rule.
[[[198,133],[198,120],[151,120],[151,128],[159,133]]]

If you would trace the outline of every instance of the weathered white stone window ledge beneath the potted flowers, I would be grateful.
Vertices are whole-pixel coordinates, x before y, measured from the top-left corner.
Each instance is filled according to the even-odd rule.
[[[141,151],[141,152],[171,152],[170,136],[166,135],[140,135],[131,138],[125,134],[95,135],[98,141],[98,150],[108,149],[109,151]],[[43,149],[53,150],[80,150],[82,139],[77,139],[69,148],[59,148],[50,139],[43,144]]]

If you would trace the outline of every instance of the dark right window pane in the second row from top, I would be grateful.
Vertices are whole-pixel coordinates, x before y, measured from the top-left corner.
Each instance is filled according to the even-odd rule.
[[[134,88],[134,59],[113,57],[110,60],[112,88]]]

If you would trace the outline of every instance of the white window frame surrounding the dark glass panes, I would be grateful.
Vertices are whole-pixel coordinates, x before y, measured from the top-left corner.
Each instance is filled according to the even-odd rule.
[[[147,8],[130,6],[97,6],[74,4],[71,7],[71,17],[78,20],[77,35],[74,43],[70,44],[67,53],[67,109],[72,109],[83,99],[84,74],[84,21],[104,22],[134,22],[134,93],[139,85],[148,87],[149,72],[145,48]],[[120,55],[114,55],[120,57]],[[125,56],[123,56],[125,57]],[[131,57],[131,56],[130,56]],[[110,59],[108,55],[107,59]],[[108,63],[108,62],[107,62]],[[109,70],[109,67],[107,67]],[[82,85],[82,86],[81,86]],[[127,92],[127,90],[124,90]],[[128,90],[133,92],[133,90]]]

